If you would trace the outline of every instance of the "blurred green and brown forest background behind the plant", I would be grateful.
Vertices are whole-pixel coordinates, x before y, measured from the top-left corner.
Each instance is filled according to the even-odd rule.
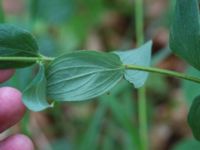
[[[33,33],[40,51],[58,56],[74,50],[113,51],[136,47],[135,0],[1,0],[1,22]],[[199,76],[171,54],[170,19],[175,0],[144,1],[145,41],[153,40],[152,65]],[[3,14],[0,11],[1,14]],[[1,15],[0,15],[1,16]],[[5,85],[23,91],[35,66],[19,69]],[[151,74],[146,83],[151,150],[200,149],[187,125],[199,86]],[[121,81],[96,101],[58,103],[4,133],[29,135],[38,150],[139,150],[137,92]]]

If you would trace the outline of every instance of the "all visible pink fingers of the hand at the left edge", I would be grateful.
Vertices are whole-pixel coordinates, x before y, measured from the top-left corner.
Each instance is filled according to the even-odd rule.
[[[0,83],[14,74],[14,70],[0,70]],[[11,87],[0,88],[0,133],[19,122],[26,111],[21,92]],[[11,135],[0,141],[0,150],[34,150],[32,141],[25,135]]]

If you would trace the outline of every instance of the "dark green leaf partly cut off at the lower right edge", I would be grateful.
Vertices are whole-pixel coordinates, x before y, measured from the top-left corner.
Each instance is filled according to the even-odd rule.
[[[192,129],[194,137],[200,141],[200,96],[196,97],[188,115],[188,123]]]

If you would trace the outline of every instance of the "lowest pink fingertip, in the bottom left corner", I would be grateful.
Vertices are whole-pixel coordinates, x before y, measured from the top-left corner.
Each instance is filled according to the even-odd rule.
[[[30,138],[23,134],[12,135],[0,142],[1,150],[34,150]]]

